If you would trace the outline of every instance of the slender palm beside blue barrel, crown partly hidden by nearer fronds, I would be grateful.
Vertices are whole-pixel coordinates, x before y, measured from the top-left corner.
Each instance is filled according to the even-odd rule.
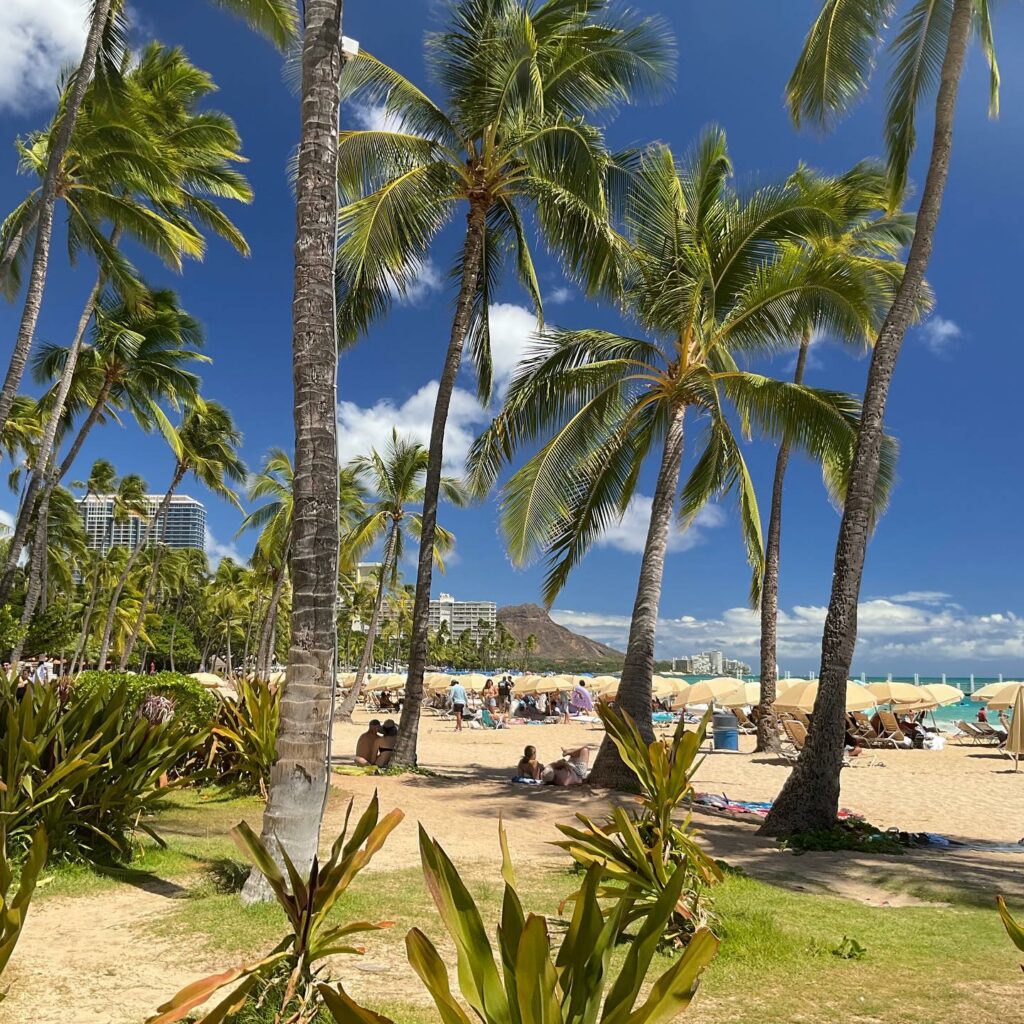
[[[800,184],[803,172],[795,176]],[[839,260],[849,260],[853,272],[864,275],[869,296],[872,322],[866,333],[840,338],[854,348],[863,350],[869,345],[882,324],[903,271],[900,254],[913,239],[913,217],[905,213],[887,214],[885,172],[870,164],[859,164],[837,180],[841,189],[843,210],[836,230],[808,238],[801,244],[808,259],[822,255]],[[802,384],[807,366],[807,354],[817,332],[815,310],[806,310],[792,325],[794,338],[800,339],[794,383]],[[777,684],[777,620],[778,575],[782,532],[782,489],[785,470],[790,461],[790,446],[779,445],[772,481],[771,513],[765,534],[764,582],[761,588],[761,703],[758,715],[758,751],[777,751],[778,732],[774,719],[775,689]],[[884,496],[883,496],[884,497]],[[876,510],[881,514],[882,508]]]

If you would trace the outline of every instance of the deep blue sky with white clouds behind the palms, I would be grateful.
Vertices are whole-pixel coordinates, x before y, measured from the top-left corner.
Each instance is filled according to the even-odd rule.
[[[609,126],[613,144],[659,139],[678,151],[703,125],[728,133],[739,179],[784,176],[798,162],[841,171],[882,151],[880,78],[871,96],[827,138],[798,135],[782,92],[817,0],[634,0],[665,16],[676,33],[679,75],[656,106],[624,111]],[[181,45],[214,76],[213,103],[237,121],[246,171],[256,201],[232,211],[253,249],[242,259],[213,243],[203,264],[175,279],[147,263],[154,284],[176,288],[205,325],[213,366],[205,393],[224,402],[245,432],[253,466],[271,445],[291,446],[290,301],[294,213],[285,166],[296,141],[298,106],[281,73],[281,57],[265,42],[203,0],[134,4],[137,39]],[[347,0],[345,33],[418,82],[425,79],[422,39],[436,14],[432,0]],[[80,0],[3,0],[0,3],[0,139],[41,125],[52,112],[61,61],[78,52]],[[938,296],[932,321],[908,336],[893,387],[889,424],[902,455],[892,508],[872,543],[862,592],[861,631],[854,671],[951,674],[1024,672],[1024,500],[1019,381],[1024,337],[1016,314],[1024,211],[1024,7],[999,6],[997,39],[1004,71],[1002,116],[986,118],[984,61],[972,50],[962,90],[954,157],[929,278]],[[346,111],[348,122],[372,111]],[[930,130],[927,116],[921,135]],[[916,180],[924,174],[919,159]],[[12,147],[0,151],[0,211],[24,196]],[[396,306],[341,362],[339,421],[343,452],[380,443],[391,425],[426,440],[452,309],[446,271],[457,233],[441,237],[412,301]],[[92,271],[70,269],[58,247],[38,337],[66,340]],[[547,317],[566,326],[608,326],[606,309],[583,301],[557,267],[543,263]],[[524,296],[511,284],[494,312],[497,359],[507,375],[532,329]],[[0,338],[9,346],[19,305],[0,306]],[[9,348],[5,348],[9,351]],[[791,360],[780,358],[784,374]],[[822,342],[813,350],[809,382],[859,391],[867,364]],[[487,422],[461,382],[453,407],[449,456],[453,465]],[[746,453],[764,495],[774,452],[761,442]],[[135,428],[96,431],[82,457],[112,459],[122,472],[142,473],[162,490],[171,470],[166,446]],[[641,490],[651,493],[650,478]],[[206,501],[214,555],[245,556],[251,541],[234,540],[239,515]],[[13,496],[0,493],[0,509]],[[497,535],[495,507],[443,513],[458,537],[457,555],[435,590],[500,604],[538,599],[543,570],[514,569]],[[783,669],[816,669],[827,602],[838,516],[818,474],[797,460],[787,477],[783,527],[780,656]],[[622,646],[633,603],[645,522],[642,499],[588,557],[556,602],[555,616]],[[658,632],[662,656],[709,646],[756,663],[757,625],[745,609],[745,559],[726,503],[673,542]],[[412,566],[407,571],[412,572]],[[1021,616],[1021,617],[1019,617]]]

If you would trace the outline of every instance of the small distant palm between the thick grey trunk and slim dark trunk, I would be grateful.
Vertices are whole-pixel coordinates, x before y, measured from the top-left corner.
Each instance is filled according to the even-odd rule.
[[[377,594],[367,625],[367,639],[355,671],[355,681],[336,715],[343,722],[352,720],[352,712],[362,692],[362,681],[373,659],[385,591],[388,587],[394,589],[398,583],[398,563],[406,550],[404,527],[408,523],[414,537],[418,537],[423,530],[422,513],[410,512],[409,506],[422,506],[423,477],[427,472],[427,450],[418,441],[400,438],[393,429],[383,455],[374,449],[370,455],[354,459],[351,463],[351,468],[366,481],[369,490],[377,496],[370,514],[356,527],[356,536],[370,539],[383,534],[386,539]],[[442,476],[440,487],[444,499],[453,505],[466,504],[466,492],[459,480]],[[446,529],[435,527],[434,564],[441,571],[444,570],[444,555],[451,551],[454,543],[455,538]]]

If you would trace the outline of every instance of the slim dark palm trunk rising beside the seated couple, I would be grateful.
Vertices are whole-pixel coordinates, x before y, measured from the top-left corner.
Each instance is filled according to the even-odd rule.
[[[420,534],[420,557],[416,570],[416,596],[413,601],[413,623],[410,629],[409,677],[406,699],[401,706],[401,721],[395,739],[391,764],[412,767],[416,764],[416,748],[420,730],[420,709],[423,707],[423,674],[427,668],[427,630],[430,625],[430,585],[434,569],[434,537],[437,527],[437,500],[440,492],[441,465],[444,459],[444,428],[447,424],[452,392],[462,364],[462,350],[473,316],[483,255],[487,208],[481,202],[470,204],[466,217],[466,241],[463,246],[462,284],[456,304],[452,335],[449,339],[444,370],[437,386],[434,418],[430,425],[427,453],[427,473],[423,484],[423,527]]]

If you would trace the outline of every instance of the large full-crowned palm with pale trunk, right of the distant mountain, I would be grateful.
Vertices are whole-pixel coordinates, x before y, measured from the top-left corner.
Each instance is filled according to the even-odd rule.
[[[857,403],[836,392],[741,371],[736,358],[790,344],[799,309],[840,333],[863,330],[870,309],[850,267],[803,258],[794,243],[834,222],[836,198],[819,188],[765,186],[748,197],[728,184],[725,136],[706,132],[682,166],[654,146],[628,189],[624,233],[632,249],[622,270],[622,304],[646,335],[549,331],[520,364],[506,403],[477,439],[472,480],[489,488],[502,464],[525,444],[554,436],[506,484],[502,523],[513,559],[543,551],[555,596],[593,541],[621,518],[648,455],[659,468],[640,566],[617,706],[652,735],[651,674],[657,612],[684,453],[684,422],[705,420],[699,455],[682,489],[685,525],[716,496],[734,490],[752,601],[762,567],[754,486],[726,416],[808,451],[841,475],[853,442]],[[835,481],[834,481],[835,482]],[[598,784],[629,787],[632,772],[610,743],[594,765]]]

